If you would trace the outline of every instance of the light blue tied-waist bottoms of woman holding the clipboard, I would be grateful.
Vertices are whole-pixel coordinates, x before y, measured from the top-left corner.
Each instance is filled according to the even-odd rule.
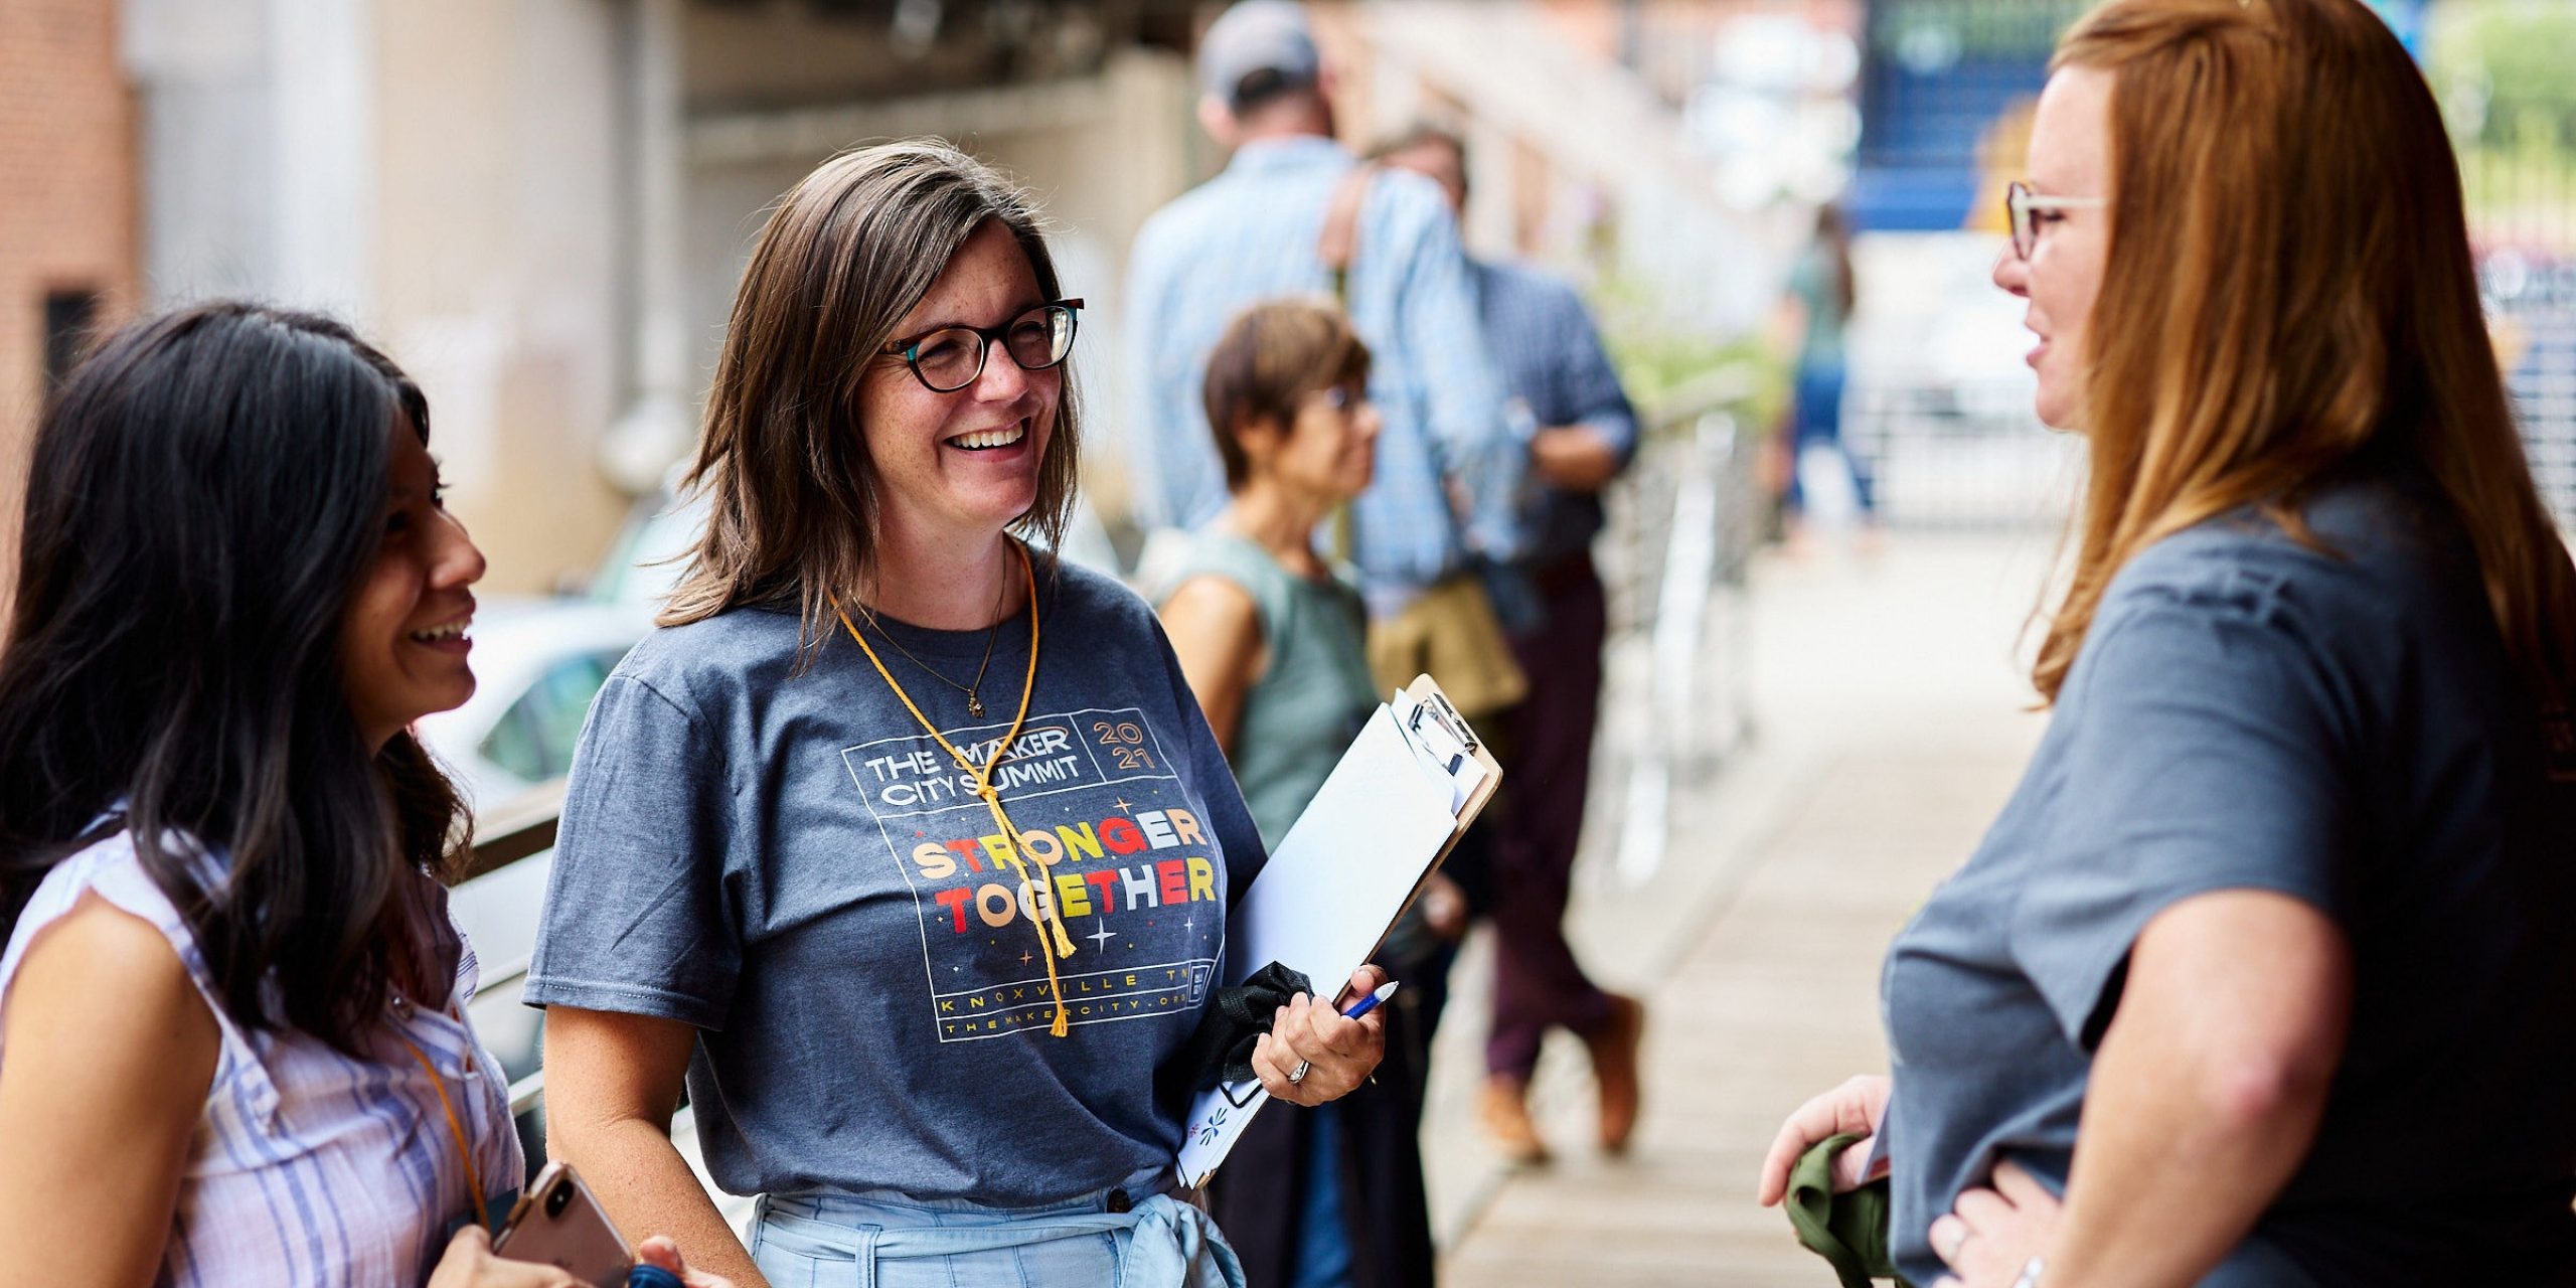
[[[1043,1208],[891,1190],[762,1195],[752,1262],[775,1288],[1244,1288],[1208,1213],[1118,1190]]]

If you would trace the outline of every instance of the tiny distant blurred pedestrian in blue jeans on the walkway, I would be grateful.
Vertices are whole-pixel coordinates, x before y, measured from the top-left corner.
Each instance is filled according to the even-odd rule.
[[[1852,229],[1842,206],[1816,206],[1816,237],[1788,270],[1788,294],[1780,296],[1777,332],[1795,345],[1790,381],[1790,433],[1788,459],[1780,474],[1780,507],[1788,523],[1790,549],[1803,549],[1811,538],[1806,528],[1806,461],[1824,459],[1852,482],[1852,515],[1862,541],[1878,536],[1878,484],[1870,464],[1842,438],[1842,389],[1850,384],[1844,363],[1844,330],[1857,307],[1857,281],[1852,276]]]

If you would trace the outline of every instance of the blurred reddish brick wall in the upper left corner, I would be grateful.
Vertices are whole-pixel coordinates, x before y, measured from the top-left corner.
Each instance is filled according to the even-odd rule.
[[[46,299],[95,294],[98,322],[124,319],[134,219],[116,0],[0,0],[0,590],[15,572],[26,446],[44,399]]]

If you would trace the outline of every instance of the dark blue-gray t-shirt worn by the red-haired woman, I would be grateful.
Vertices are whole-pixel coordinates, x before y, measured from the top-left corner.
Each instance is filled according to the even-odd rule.
[[[1893,1247],[2014,1159],[2063,1190],[2130,943],[2280,891],[2352,940],[2308,1159],[2205,1283],[2568,1283],[2576,781],[2429,484],[2354,471],[2318,554],[2249,513],[2136,556],[1986,842],[1896,938]],[[2566,773],[2566,765],[2555,765]]]

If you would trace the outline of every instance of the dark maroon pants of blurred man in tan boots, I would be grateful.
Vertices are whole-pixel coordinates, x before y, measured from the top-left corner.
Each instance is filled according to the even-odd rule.
[[[1512,639],[1530,696],[1512,714],[1494,796],[1504,814],[1492,829],[1494,1030],[1484,1043],[1486,1072],[1520,1079],[1538,1066],[1551,1025],[1592,1036],[1610,1023],[1610,997],[1574,961],[1564,925],[1610,613],[1589,554],[1551,564],[1533,582],[1538,626]]]

